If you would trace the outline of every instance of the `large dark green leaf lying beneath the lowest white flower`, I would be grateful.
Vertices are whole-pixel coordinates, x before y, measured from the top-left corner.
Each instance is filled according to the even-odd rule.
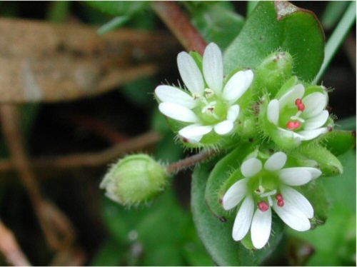
[[[192,176],[191,210],[198,236],[208,253],[218,266],[253,266],[262,263],[281,240],[283,224],[273,220],[269,246],[258,251],[246,249],[241,242],[233,241],[231,236],[233,220],[223,223],[209,211],[204,199],[206,183],[213,167],[213,162],[196,166]]]

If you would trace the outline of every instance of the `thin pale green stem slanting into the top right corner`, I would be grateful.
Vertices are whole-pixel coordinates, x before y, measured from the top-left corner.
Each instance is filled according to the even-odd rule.
[[[323,59],[323,64],[321,66],[320,71],[316,75],[315,79],[313,79],[313,83],[316,84],[321,80],[323,74],[325,73],[328,65],[330,64],[333,56],[336,54],[338,47],[341,45],[342,41],[345,39],[348,34],[349,29],[356,21],[356,2],[353,1],[346,10],[343,18],[340,23],[336,26],[335,31],[331,35],[330,39],[325,47],[325,58]]]

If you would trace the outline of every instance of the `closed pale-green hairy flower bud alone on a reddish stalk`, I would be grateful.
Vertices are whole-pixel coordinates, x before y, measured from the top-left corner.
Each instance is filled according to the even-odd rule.
[[[106,196],[131,206],[151,201],[164,190],[166,169],[146,154],[126,156],[109,169],[100,187]]]

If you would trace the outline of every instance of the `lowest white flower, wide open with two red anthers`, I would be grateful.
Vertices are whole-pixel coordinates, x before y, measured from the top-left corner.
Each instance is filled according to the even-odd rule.
[[[291,186],[302,186],[318,178],[321,171],[308,167],[283,168],[286,160],[286,153],[277,152],[264,165],[256,157],[242,163],[244,178],[226,191],[222,201],[227,211],[243,201],[233,225],[235,241],[243,239],[251,228],[253,246],[263,248],[271,232],[271,208],[296,231],[310,229],[313,207]]]

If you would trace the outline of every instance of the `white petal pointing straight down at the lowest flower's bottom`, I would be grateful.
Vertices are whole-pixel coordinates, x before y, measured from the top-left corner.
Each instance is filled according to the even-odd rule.
[[[251,222],[251,241],[256,248],[263,248],[268,242],[271,231],[271,208],[261,211],[258,208]]]

